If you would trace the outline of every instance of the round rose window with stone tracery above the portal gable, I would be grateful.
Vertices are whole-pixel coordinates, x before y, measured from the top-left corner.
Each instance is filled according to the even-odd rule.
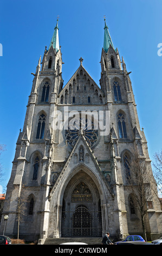
[[[98,125],[92,119],[80,117],[71,119],[66,126],[64,134],[68,145],[73,148],[81,132],[90,147],[93,147],[99,135]]]

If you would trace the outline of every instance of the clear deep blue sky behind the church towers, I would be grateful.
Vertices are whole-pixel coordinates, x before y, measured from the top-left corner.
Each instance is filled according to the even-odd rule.
[[[11,174],[16,141],[23,128],[38,59],[59,19],[64,85],[83,66],[99,85],[100,58],[103,47],[104,20],[114,44],[123,56],[132,81],[140,126],[148,142],[148,153],[161,147],[162,2],[160,0],[15,0],[2,1],[0,10],[1,126],[0,144],[6,145],[1,155],[4,170],[3,191]]]

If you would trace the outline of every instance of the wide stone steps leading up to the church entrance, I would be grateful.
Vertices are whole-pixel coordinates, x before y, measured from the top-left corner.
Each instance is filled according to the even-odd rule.
[[[109,239],[114,243],[117,241],[116,237],[109,237]],[[102,237],[60,237],[52,238],[48,237],[44,245],[60,245],[61,243],[67,242],[82,242],[87,243],[88,245],[101,245]]]

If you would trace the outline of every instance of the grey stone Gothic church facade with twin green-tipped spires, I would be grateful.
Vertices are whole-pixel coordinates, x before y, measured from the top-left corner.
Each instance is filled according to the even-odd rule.
[[[17,234],[19,198],[24,199],[20,236],[40,244],[47,237],[101,237],[106,231],[118,239],[142,234],[127,191],[131,149],[150,172],[151,160],[124,59],[106,21],[104,29],[100,87],[82,58],[63,87],[58,21],[38,60],[7,187],[5,234]],[[162,232],[162,215],[158,199],[150,201],[145,226],[154,238]]]

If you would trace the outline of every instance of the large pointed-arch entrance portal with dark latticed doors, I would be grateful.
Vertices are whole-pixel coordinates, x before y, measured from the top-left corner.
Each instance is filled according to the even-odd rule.
[[[102,236],[101,200],[92,178],[82,170],[69,181],[63,195],[62,237]]]

